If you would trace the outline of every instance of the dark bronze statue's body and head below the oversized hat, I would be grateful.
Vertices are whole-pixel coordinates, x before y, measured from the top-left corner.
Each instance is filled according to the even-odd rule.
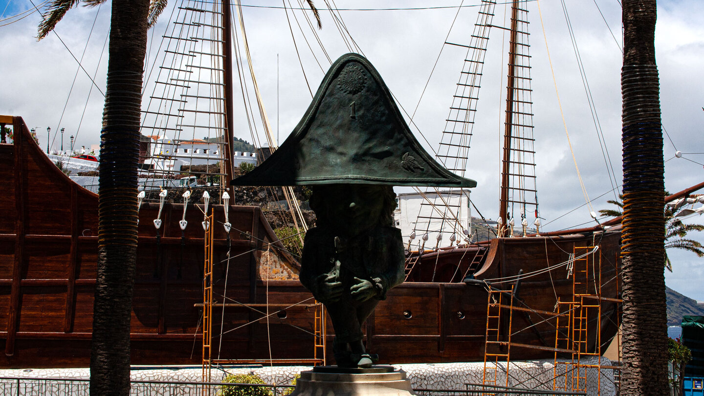
[[[337,365],[368,367],[376,359],[365,350],[362,323],[404,276],[396,194],[389,185],[312,187],[318,221],[306,234],[299,278],[332,319]]]

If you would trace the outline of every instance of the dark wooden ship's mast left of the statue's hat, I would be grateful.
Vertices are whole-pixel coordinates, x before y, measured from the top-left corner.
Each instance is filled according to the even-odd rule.
[[[232,91],[232,18],[230,0],[222,0],[222,73],[225,90],[225,189],[230,188],[234,165],[232,163],[232,132],[234,130],[234,104]]]

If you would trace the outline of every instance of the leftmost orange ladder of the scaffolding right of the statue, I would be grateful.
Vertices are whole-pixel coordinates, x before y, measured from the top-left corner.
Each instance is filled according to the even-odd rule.
[[[508,295],[508,296],[505,296]],[[505,305],[508,299],[508,306]],[[509,309],[508,329],[501,326],[501,309]],[[513,286],[511,290],[493,290],[489,286],[488,302],[486,304],[486,344],[484,345],[484,372],[482,373],[482,384],[496,385],[498,382],[499,364],[505,362],[506,380],[508,386],[508,364],[510,363],[509,352],[511,342],[511,323],[513,321]],[[502,337],[502,330],[505,337]],[[504,340],[505,339],[505,340]],[[492,349],[489,352],[489,349]],[[505,353],[503,352],[505,349]]]

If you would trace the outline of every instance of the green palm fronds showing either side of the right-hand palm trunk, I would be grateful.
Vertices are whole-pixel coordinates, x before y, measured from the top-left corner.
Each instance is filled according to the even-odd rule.
[[[668,195],[670,195],[670,193],[665,191],[665,196],[667,197]],[[620,199],[618,201],[615,199],[609,199],[607,201],[609,204],[617,206],[618,209],[601,209],[599,214],[601,214],[601,216],[610,217],[622,216],[623,194],[619,194],[618,198]],[[681,219],[677,217],[679,213],[679,208],[665,205],[665,268],[670,272],[672,272],[672,261],[670,261],[670,257],[667,256],[667,249],[684,249],[696,254],[698,257],[704,257],[704,245],[696,240],[685,238],[691,231],[704,231],[704,225],[682,223]]]

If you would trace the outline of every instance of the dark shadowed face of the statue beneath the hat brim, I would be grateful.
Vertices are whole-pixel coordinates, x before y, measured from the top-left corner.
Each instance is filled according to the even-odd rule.
[[[318,187],[318,186],[317,186]],[[380,185],[321,185],[330,225],[341,235],[355,236],[379,224],[384,207]]]

